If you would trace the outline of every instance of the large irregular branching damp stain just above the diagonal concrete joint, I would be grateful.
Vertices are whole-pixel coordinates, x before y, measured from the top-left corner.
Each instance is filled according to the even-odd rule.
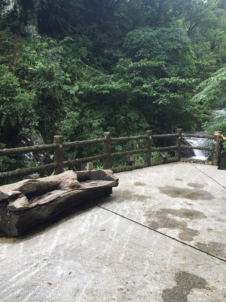
[[[178,237],[180,240],[188,242],[192,241],[194,237],[199,235],[198,230],[194,230],[188,227],[187,221],[184,219],[195,220],[195,219],[206,219],[206,215],[197,210],[190,210],[186,208],[181,209],[159,209],[155,212],[148,210],[144,211],[147,219],[147,225],[153,229],[179,229],[180,233]],[[176,217],[182,218],[178,220]]]

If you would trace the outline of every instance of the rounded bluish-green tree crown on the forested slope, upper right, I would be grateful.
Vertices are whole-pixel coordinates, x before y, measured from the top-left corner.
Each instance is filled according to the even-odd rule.
[[[182,27],[135,29],[127,34],[124,47],[133,60],[165,62],[156,74],[159,78],[190,76],[195,71],[190,39]]]

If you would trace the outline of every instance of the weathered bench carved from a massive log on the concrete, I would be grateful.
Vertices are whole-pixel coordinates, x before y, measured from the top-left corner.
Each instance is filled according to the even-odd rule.
[[[67,171],[0,187],[0,229],[17,236],[80,202],[112,193],[118,178],[111,170]]]

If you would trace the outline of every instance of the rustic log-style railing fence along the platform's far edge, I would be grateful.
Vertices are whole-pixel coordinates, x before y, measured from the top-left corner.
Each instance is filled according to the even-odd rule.
[[[221,133],[220,131],[217,131]],[[161,147],[161,148],[152,148],[152,139],[159,138],[168,138],[176,137],[177,143],[175,146]],[[214,148],[211,147],[200,147],[200,146],[187,146],[182,145],[182,137],[199,137],[199,138],[209,138],[214,140]],[[141,150],[131,150],[124,152],[111,153],[111,142],[123,142],[130,140],[146,140],[145,149]],[[180,161],[181,158],[181,149],[198,149],[213,151],[214,159],[213,165],[220,165],[221,161],[221,149],[222,149],[223,139],[221,136],[213,136],[207,134],[193,134],[193,133],[183,133],[182,129],[177,129],[176,133],[173,134],[154,134],[152,135],[151,130],[146,131],[146,135],[139,135],[134,137],[112,137],[110,132],[104,132],[104,137],[94,140],[83,140],[77,142],[63,143],[62,136],[55,136],[54,143],[49,145],[39,145],[39,146],[29,146],[29,147],[20,147],[12,149],[1,149],[1,156],[11,156],[11,155],[20,155],[30,152],[45,152],[54,150],[54,162],[47,165],[40,165],[32,168],[17,169],[9,172],[0,172],[0,179],[28,175],[34,172],[43,172],[49,169],[55,169],[55,174],[60,174],[63,172],[63,168],[71,165],[77,165],[82,162],[89,162],[97,159],[103,159],[103,169],[110,169],[110,159],[111,157],[119,157],[125,155],[134,155],[145,153],[144,166],[149,167],[151,165],[151,153],[156,151],[168,151],[175,149],[175,161]],[[84,157],[79,159],[72,159],[64,161],[63,150],[64,148],[76,148],[78,146],[89,146],[93,144],[103,143],[103,154],[97,156]]]

